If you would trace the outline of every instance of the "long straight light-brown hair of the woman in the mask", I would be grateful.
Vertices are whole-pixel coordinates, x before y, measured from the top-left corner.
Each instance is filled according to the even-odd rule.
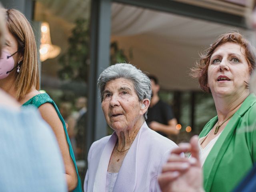
[[[6,24],[9,31],[18,42],[18,52],[23,60],[20,65],[20,73],[16,73],[16,98],[24,98],[32,88],[39,89],[39,73],[37,62],[36,40],[30,23],[18,10],[4,10]]]

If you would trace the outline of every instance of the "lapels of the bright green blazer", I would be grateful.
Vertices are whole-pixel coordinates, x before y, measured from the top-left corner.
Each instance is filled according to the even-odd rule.
[[[203,166],[203,172],[204,172],[204,189],[206,191],[211,190],[212,182],[214,180],[214,176],[216,174],[218,165],[220,164],[220,161],[228,148],[230,141],[232,140],[232,137],[234,136],[234,132],[236,131],[236,126],[241,118],[241,116],[254,104],[255,102],[255,95],[250,94],[242,103],[241,107],[235,112],[234,116],[230,119],[222,133],[220,134],[220,137],[212,147],[212,150],[210,151],[208,157],[206,158]],[[212,121],[212,122],[211,122]],[[205,136],[214,126],[214,124],[217,121],[217,117],[213,118],[209,122],[209,128],[204,131],[202,131],[202,136]],[[211,126],[211,127],[210,127]],[[200,136],[201,136],[200,134]],[[201,137],[202,137],[201,136]]]

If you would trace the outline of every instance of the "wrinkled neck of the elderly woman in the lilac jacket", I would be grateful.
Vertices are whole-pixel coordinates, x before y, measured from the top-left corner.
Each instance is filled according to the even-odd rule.
[[[131,129],[127,129],[125,131],[119,131],[119,132],[116,131],[116,135],[118,137],[118,142],[116,147],[119,151],[124,151],[131,147],[132,142],[134,141],[134,139],[136,138],[140,130],[140,127],[145,121],[144,117],[142,118],[143,119],[139,120],[137,125],[134,125]]]

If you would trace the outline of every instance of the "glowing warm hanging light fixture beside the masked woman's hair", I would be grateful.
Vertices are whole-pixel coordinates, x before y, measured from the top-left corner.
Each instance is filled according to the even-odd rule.
[[[40,44],[40,61],[55,58],[60,54],[60,47],[52,45],[50,36],[50,27],[47,22],[41,24],[41,44]]]

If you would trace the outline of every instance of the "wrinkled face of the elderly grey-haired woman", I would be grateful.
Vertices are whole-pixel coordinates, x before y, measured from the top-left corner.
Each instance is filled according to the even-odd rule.
[[[101,106],[106,122],[115,131],[132,129],[144,118],[133,83],[124,78],[107,82]]]

